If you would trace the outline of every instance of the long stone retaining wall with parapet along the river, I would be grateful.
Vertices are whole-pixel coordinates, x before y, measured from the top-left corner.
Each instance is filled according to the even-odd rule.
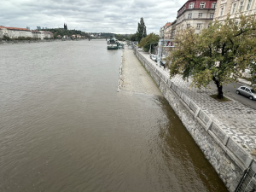
[[[249,166],[256,172],[256,162],[232,138],[224,134],[217,122],[201,111],[189,96],[179,90],[178,84],[157,70],[139,50],[134,52],[148,70],[166,100],[182,120],[183,125],[212,164],[227,189],[236,190],[244,172]],[[255,183],[255,180],[253,179]]]

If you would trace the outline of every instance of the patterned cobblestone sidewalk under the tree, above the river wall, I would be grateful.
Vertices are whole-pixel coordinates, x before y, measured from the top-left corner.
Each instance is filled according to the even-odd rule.
[[[141,52],[142,55],[154,66],[156,62],[149,58],[148,53]],[[169,71],[163,67],[157,67],[160,73],[166,78],[170,78]],[[256,148],[256,110],[248,108],[241,102],[218,102],[210,95],[217,93],[216,89],[202,89],[190,87],[191,80],[184,81],[181,76],[172,78],[172,82],[177,84],[178,89],[182,90],[202,111],[218,122],[222,130],[229,137],[245,148],[249,153]],[[254,157],[255,158],[255,157]]]

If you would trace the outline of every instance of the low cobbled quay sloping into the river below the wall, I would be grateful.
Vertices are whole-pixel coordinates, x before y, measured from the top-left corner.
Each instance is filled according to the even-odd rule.
[[[147,70],[133,54],[132,49],[125,46],[120,76],[120,90],[162,96],[154,80],[148,75]]]

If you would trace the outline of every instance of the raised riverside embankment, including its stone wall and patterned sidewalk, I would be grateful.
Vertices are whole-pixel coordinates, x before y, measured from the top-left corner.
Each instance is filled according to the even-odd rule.
[[[195,143],[230,191],[253,189],[256,181],[256,111],[232,100],[218,102],[217,90],[190,87],[191,80],[169,73],[150,60],[143,49],[134,49],[162,94],[182,120]],[[242,179],[244,178],[244,179]]]

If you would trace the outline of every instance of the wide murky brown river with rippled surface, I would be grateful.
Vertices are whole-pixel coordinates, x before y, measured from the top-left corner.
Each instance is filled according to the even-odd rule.
[[[121,55],[0,46],[1,191],[225,191],[163,97],[116,91]]]

